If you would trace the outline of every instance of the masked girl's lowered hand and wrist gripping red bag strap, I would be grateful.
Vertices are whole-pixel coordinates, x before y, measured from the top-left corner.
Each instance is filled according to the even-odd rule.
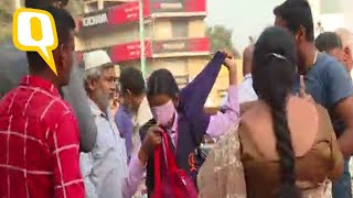
[[[156,125],[148,130],[139,151],[139,160],[142,164],[147,163],[148,156],[154,150],[154,146],[162,142],[162,132],[163,130]]]

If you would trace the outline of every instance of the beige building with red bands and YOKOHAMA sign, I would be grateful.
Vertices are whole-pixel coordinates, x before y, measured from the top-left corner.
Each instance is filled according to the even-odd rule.
[[[211,58],[204,23],[206,0],[142,2],[146,76],[167,68],[183,87]],[[85,14],[77,19],[76,50],[81,56],[105,50],[120,68],[140,67],[139,25],[138,1],[85,1]],[[217,106],[220,92],[215,86],[208,106]]]

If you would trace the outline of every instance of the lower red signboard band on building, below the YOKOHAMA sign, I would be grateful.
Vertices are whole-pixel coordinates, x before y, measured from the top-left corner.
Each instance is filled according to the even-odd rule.
[[[173,41],[145,41],[145,55],[147,58],[153,55],[163,55],[168,53],[208,53],[210,41],[207,37],[173,40]],[[106,48],[113,63],[121,63],[140,58],[140,42],[131,42],[120,45],[114,45]],[[82,53],[78,53],[82,61]]]

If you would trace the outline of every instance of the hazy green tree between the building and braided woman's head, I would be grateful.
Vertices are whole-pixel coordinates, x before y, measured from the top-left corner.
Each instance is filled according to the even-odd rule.
[[[210,38],[212,53],[218,50],[227,50],[232,52],[235,57],[240,57],[239,52],[232,43],[232,30],[222,25],[208,26],[206,29],[206,35]]]

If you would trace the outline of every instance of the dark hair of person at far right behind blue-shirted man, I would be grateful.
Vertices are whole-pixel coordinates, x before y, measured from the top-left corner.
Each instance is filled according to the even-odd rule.
[[[315,46],[320,52],[329,52],[333,48],[342,48],[342,41],[334,32],[323,32],[317,37]]]

